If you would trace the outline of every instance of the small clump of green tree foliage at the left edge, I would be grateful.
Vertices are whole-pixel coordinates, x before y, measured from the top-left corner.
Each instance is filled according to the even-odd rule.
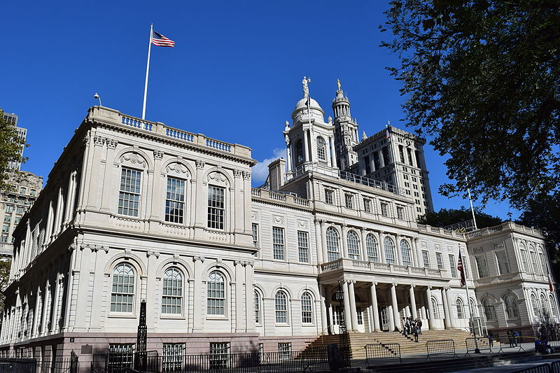
[[[10,185],[8,180],[10,162],[25,162],[20,150],[26,146],[25,140],[18,138],[18,131],[14,125],[4,120],[4,112],[0,109],[0,190],[7,190]]]

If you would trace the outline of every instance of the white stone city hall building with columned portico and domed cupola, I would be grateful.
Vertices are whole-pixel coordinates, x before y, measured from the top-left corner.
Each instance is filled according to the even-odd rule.
[[[459,250],[468,286],[484,288],[471,292],[475,316],[491,293],[492,326],[537,322],[526,299],[548,288],[547,259],[521,270],[517,262],[523,246],[537,255],[540,232],[504,223],[468,237],[416,224],[406,195],[337,176],[332,123],[311,106],[311,122],[298,104],[284,132],[288,155],[298,156],[290,147],[298,139],[305,153],[288,160],[287,181],[283,161],[271,166],[274,191],[251,188],[255,161],[245,146],[90,108],[15,230],[0,350],[43,357],[73,349],[87,361],[136,342],[141,300],[148,349],[296,350],[337,332],[339,286],[351,332],[394,330],[403,316],[425,328],[468,328]],[[321,164],[308,148],[318,136]],[[507,252],[509,270],[479,276],[479,250],[491,258],[496,249]],[[498,311],[505,281],[515,321]],[[557,320],[556,304],[547,317]]]

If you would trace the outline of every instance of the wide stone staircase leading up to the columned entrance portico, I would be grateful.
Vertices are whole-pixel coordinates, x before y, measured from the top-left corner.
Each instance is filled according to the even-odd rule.
[[[458,329],[448,330],[423,330],[422,335],[419,335],[419,342],[414,342],[414,336],[409,335],[405,337],[399,332],[367,332],[367,333],[349,333],[351,358],[365,359],[366,344],[400,344],[400,353],[405,355],[426,355],[426,341],[433,341],[436,339],[453,339],[455,342],[455,349],[465,349],[465,338],[470,338],[468,332]],[[314,339],[308,348],[326,346],[331,343],[339,343],[338,335],[320,335]]]

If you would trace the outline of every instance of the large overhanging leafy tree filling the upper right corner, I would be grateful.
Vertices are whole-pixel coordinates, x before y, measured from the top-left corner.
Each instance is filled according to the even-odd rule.
[[[393,0],[381,45],[400,66],[409,124],[454,184],[523,209],[560,185],[558,0]]]

